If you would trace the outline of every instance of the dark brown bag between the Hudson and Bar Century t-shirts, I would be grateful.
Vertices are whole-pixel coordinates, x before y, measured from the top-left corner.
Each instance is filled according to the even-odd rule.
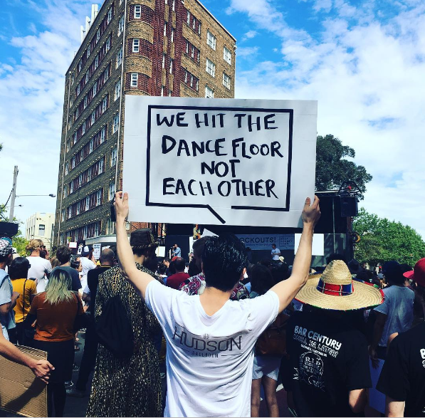
[[[257,355],[282,357],[286,354],[286,324],[289,315],[280,313],[276,320],[258,337]]]

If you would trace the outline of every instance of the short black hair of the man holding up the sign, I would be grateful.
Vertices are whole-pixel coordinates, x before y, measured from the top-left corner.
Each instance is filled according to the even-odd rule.
[[[212,236],[202,253],[206,286],[231,291],[248,264],[245,244],[235,235]]]

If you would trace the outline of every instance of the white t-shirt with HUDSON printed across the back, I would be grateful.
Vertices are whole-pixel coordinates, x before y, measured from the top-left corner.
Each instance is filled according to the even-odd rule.
[[[199,296],[151,281],[147,307],[167,340],[164,417],[250,417],[253,348],[276,319],[276,293],[227,301],[206,315]]]

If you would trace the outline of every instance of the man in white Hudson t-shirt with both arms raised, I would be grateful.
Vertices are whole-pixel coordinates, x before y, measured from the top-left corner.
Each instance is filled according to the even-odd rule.
[[[127,280],[159,319],[167,340],[165,417],[251,414],[253,347],[308,278],[319,200],[303,209],[303,234],[293,274],[263,296],[229,301],[246,271],[245,246],[236,236],[211,237],[204,244],[206,288],[199,298],[161,286],[137,269],[127,239],[128,195],[115,196],[117,251]],[[199,241],[199,240],[198,240]],[[182,396],[184,394],[184,396]]]

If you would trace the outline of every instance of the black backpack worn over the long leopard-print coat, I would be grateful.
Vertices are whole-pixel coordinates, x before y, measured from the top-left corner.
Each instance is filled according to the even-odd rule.
[[[117,358],[130,357],[135,352],[132,325],[120,296],[110,297],[95,323],[99,343]]]

